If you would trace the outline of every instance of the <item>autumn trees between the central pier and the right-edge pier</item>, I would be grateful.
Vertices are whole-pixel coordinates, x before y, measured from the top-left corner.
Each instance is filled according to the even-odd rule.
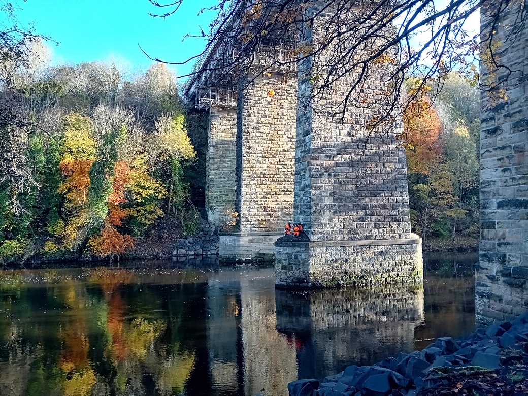
[[[420,88],[403,115],[412,231],[429,247],[476,249],[480,92],[456,72],[437,83],[440,93]],[[413,95],[412,80],[408,89]]]

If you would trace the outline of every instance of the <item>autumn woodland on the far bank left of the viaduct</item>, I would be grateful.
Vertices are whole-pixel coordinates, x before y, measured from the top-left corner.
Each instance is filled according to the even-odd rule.
[[[0,260],[119,256],[158,218],[199,228],[183,168],[195,160],[174,74],[111,62],[51,67],[31,44],[3,62]]]

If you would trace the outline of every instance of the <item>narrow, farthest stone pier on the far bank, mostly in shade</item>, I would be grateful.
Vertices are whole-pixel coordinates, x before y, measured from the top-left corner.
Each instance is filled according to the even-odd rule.
[[[220,223],[234,211],[237,110],[211,107],[205,163],[205,209],[210,222]]]

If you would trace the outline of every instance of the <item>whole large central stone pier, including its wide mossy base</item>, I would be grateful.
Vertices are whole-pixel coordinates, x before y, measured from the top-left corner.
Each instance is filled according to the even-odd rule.
[[[307,40],[318,34],[307,32]],[[406,157],[397,138],[402,120],[369,131],[365,120],[379,110],[361,101],[362,95],[386,98],[390,65],[369,70],[341,119],[328,109],[343,102],[356,71],[312,97],[314,74],[327,74],[318,63],[324,57],[306,58],[298,67],[294,221],[310,241],[275,243],[276,286],[421,282],[421,239],[411,233]]]

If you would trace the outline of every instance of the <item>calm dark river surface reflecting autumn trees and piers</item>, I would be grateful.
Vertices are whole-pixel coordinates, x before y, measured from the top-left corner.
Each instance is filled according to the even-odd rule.
[[[270,267],[0,270],[0,395],[281,396],[471,332],[476,254],[425,261],[423,287],[315,293]]]

